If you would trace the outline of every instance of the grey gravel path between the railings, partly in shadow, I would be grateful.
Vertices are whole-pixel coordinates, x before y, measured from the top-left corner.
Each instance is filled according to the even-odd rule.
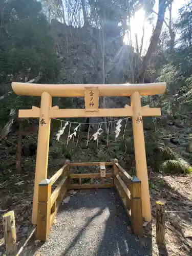
[[[114,189],[77,190],[60,206],[47,242],[35,255],[152,255],[150,241],[145,240],[144,248]]]

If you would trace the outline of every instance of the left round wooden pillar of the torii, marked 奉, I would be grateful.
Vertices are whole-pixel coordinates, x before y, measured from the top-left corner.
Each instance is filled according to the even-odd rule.
[[[35,184],[33,194],[33,211],[32,224],[37,223],[37,207],[38,207],[38,184],[47,178],[49,138],[50,138],[50,109],[52,105],[52,97],[49,93],[41,94],[39,130],[37,143],[37,157],[35,168]]]

